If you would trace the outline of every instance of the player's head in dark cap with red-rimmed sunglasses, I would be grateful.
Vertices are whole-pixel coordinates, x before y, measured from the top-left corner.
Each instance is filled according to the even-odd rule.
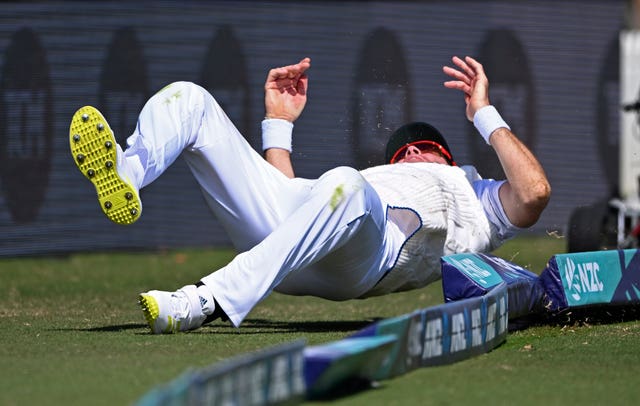
[[[385,162],[435,162],[455,166],[451,149],[434,126],[413,122],[398,128],[387,142]]]

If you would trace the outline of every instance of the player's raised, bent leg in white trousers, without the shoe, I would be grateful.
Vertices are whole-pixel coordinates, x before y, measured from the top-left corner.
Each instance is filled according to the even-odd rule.
[[[264,239],[302,198],[291,181],[246,142],[200,86],[174,83],[149,100],[127,140],[139,162],[139,187],[153,182],[182,154],[204,198],[238,250]]]

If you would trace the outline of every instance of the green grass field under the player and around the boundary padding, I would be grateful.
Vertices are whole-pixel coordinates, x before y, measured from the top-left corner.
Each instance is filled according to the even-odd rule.
[[[554,237],[521,237],[496,254],[538,273],[564,247]],[[188,368],[301,338],[337,340],[377,318],[442,303],[439,283],[342,303],[274,294],[239,329],[218,322],[188,334],[148,333],[139,292],[174,290],[232,256],[211,249],[0,260],[0,404],[131,404]],[[639,377],[637,318],[587,320],[516,331],[488,354],[332,402],[633,405]]]

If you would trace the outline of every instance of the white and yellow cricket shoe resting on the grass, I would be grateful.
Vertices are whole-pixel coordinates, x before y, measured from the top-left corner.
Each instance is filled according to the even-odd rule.
[[[151,290],[141,293],[138,302],[151,332],[169,334],[202,326],[206,316],[195,289],[188,285],[176,292]]]

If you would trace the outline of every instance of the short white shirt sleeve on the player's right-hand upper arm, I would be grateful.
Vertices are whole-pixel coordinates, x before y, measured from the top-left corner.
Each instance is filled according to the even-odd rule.
[[[502,240],[507,240],[523,229],[514,226],[502,207],[500,202],[499,190],[500,186],[506,182],[504,180],[493,179],[477,179],[471,182],[473,190],[478,196],[478,200],[484,208],[484,212],[487,215],[489,222],[493,224],[498,232],[498,237]]]

